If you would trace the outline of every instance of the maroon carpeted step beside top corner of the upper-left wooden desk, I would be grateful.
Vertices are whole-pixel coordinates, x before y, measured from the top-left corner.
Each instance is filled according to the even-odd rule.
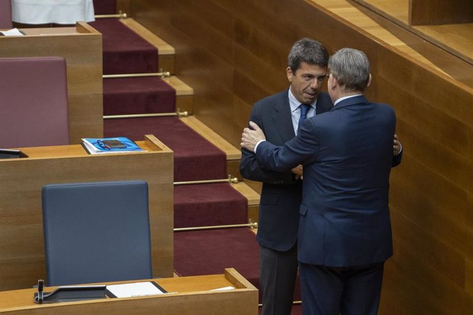
[[[158,72],[158,49],[117,18],[99,18],[90,25],[102,34],[104,75]]]

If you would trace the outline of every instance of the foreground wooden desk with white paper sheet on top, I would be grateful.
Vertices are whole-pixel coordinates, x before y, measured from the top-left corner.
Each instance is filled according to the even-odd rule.
[[[154,279],[167,292],[153,297],[35,304],[36,289],[0,292],[0,314],[258,314],[258,290],[233,268],[224,275]],[[136,281],[126,281],[136,282]],[[125,283],[125,282],[123,282]],[[226,286],[235,290],[209,291]],[[45,288],[51,292],[54,288]]]

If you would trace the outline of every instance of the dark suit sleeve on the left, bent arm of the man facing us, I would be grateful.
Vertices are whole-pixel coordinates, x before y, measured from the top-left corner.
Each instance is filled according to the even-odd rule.
[[[256,123],[261,129],[263,129],[263,132],[265,131],[265,126],[263,125],[263,119],[261,118],[258,103],[256,103],[253,107],[250,121]],[[261,181],[266,184],[295,183],[295,178],[290,169],[289,171],[271,171],[258,162],[256,155],[253,152],[244,148],[241,149],[240,173],[241,176],[246,179]]]

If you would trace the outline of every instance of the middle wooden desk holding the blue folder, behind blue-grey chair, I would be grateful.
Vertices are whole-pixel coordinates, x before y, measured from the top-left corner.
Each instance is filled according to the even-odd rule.
[[[20,148],[29,157],[0,160],[0,290],[45,278],[41,188],[81,181],[145,180],[154,277],[173,275],[173,152],[154,136],[147,152],[88,155],[80,144]]]

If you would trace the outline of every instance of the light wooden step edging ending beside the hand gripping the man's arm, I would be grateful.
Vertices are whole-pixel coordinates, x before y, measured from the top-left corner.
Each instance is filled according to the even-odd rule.
[[[197,134],[206,138],[215,147],[221,149],[227,155],[227,160],[241,160],[241,151],[234,147],[230,142],[223,139],[215,131],[207,127],[202,121],[199,121],[195,116],[181,117],[181,121],[191,127]]]

